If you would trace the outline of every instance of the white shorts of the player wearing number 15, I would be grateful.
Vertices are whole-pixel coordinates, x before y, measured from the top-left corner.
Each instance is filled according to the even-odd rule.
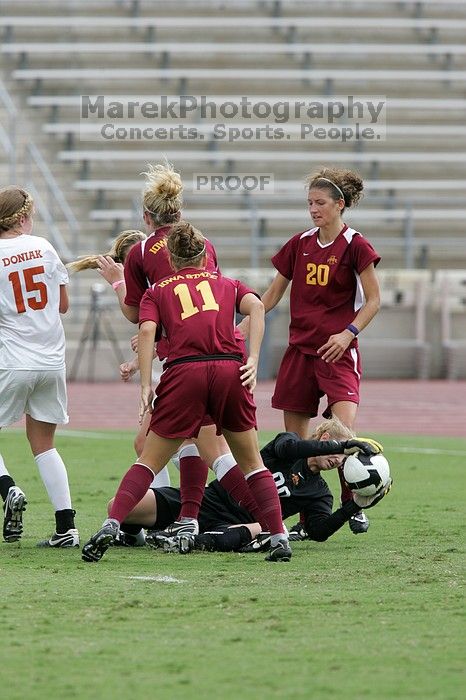
[[[0,369],[0,427],[26,413],[44,423],[68,423],[66,370]]]

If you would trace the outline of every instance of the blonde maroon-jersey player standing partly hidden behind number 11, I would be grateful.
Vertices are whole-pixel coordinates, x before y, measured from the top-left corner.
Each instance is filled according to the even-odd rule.
[[[183,183],[179,173],[169,163],[151,165],[144,174],[147,182],[143,191],[143,216],[149,238],[138,243],[128,254],[124,270],[126,284],[119,284],[121,271],[114,269],[113,261],[99,258],[101,273],[108,281],[118,285],[115,292],[121,310],[133,323],[138,322],[139,304],[146,289],[173,272],[167,254],[167,237],[171,226],[181,217],[182,206]],[[215,271],[215,249],[207,240],[205,245],[206,269]],[[240,350],[244,351],[244,343]],[[167,339],[163,335],[157,342],[157,354],[160,359],[164,359],[167,352]],[[248,508],[256,512],[256,517],[260,520],[257,504],[254,503],[242,473],[235,469],[236,462],[229,454],[228,445],[222,436],[215,435],[215,426],[211,421],[209,424],[208,418],[205,422],[196,444],[183,445],[178,455],[182,508],[180,522],[173,523],[169,534],[174,534],[174,529],[197,531],[197,515],[209,471],[207,462],[213,465],[217,478],[230,495],[247,503]],[[137,440],[140,454],[145,431],[140,430]],[[199,451],[204,459],[200,457]]]

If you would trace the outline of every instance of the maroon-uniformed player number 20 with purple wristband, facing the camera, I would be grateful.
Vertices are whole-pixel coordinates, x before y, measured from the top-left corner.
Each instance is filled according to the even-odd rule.
[[[319,400],[353,429],[359,403],[361,361],[357,335],[379,308],[375,266],[380,260],[364,236],[343,221],[357,204],[363,182],[350,170],[324,168],[308,178],[314,226],[293,236],[272,258],[277,274],[263,295],[273,309],[291,282],[289,346],[282,359],[272,406],[283,410],[285,429],[306,437]],[[342,482],[342,500],[351,498]],[[359,518],[359,521],[358,521]],[[367,530],[364,514],[353,532]]]

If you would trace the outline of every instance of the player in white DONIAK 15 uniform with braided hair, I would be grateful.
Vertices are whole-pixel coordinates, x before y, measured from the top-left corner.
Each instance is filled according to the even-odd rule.
[[[0,190],[0,428],[26,415],[26,434],[55,510],[56,530],[43,545],[75,547],[79,535],[66,467],[54,447],[56,426],[67,423],[65,335],[68,274],[53,246],[32,235],[32,197],[19,187]],[[3,539],[23,531],[26,497],[0,455]]]

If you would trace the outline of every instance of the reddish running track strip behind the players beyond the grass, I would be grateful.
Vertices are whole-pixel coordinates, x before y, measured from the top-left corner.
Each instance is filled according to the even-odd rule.
[[[258,424],[282,430],[281,412],[270,407],[273,382],[255,391]],[[67,426],[72,430],[135,430],[139,388],[136,382],[69,383]],[[66,428],[65,428],[66,429]],[[362,382],[356,430],[360,435],[404,433],[466,437],[466,381]]]

